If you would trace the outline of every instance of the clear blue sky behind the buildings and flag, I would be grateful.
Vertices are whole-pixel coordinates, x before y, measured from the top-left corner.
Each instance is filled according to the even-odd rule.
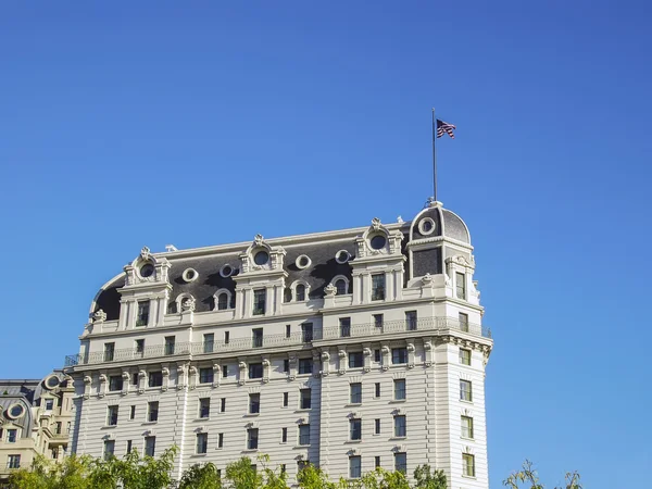
[[[0,377],[61,366],[143,244],[411,218],[436,106],[491,487],[649,486],[650,2],[88,3],[0,7]]]

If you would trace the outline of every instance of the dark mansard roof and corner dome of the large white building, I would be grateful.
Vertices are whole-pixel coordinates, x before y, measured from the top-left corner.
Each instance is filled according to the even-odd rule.
[[[431,220],[431,230],[421,226],[424,220]],[[453,212],[444,210],[440,202],[428,202],[413,221],[387,224],[389,231],[403,234],[402,252],[411,240],[436,238],[444,236],[459,243],[471,244],[471,237],[466,224]],[[421,230],[419,230],[421,228]],[[351,279],[352,267],[350,263],[338,263],[336,255],[346,250],[351,260],[356,255],[356,238],[363,236],[368,227],[350,228],[337,231],[316,233],[309,235],[289,236],[264,240],[271,247],[281,247],[285,250],[284,272],[287,273],[286,286],[293,283],[304,283],[309,287],[311,299],[323,298],[326,287],[336,276]],[[424,231],[424,233],[422,233]],[[261,237],[262,238],[262,237]],[[258,237],[256,237],[258,239]],[[166,259],[170,262],[170,293],[171,305],[174,306],[180,294],[190,294],[196,300],[196,311],[212,311],[214,296],[218,290],[235,292],[236,276],[241,267],[241,254],[250,249],[251,242],[222,244],[189,250],[175,250],[162,253],[152,253],[155,259]],[[147,250],[149,253],[149,250]],[[297,259],[308,255],[310,265],[297,266]],[[136,262],[134,262],[136,263]],[[224,277],[221,269],[230,265],[236,272],[234,276]],[[184,273],[193,269],[197,277],[187,280]],[[108,321],[117,319],[120,316],[120,289],[127,283],[125,274],[120,274],[106,283],[96,296],[90,314],[102,310]]]

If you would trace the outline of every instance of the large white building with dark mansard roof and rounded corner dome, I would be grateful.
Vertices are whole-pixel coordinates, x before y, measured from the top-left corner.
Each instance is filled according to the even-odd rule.
[[[293,480],[424,463],[488,488],[475,261],[439,202],[414,220],[151,253],[92,301],[72,451],[158,454],[176,475],[266,453]]]

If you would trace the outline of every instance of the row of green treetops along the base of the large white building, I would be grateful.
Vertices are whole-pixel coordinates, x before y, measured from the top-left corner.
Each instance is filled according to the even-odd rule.
[[[188,467],[175,481],[172,478],[176,447],[165,450],[159,457],[140,456],[134,450],[122,460],[92,459],[72,455],[61,464],[42,456],[37,457],[30,469],[14,472],[10,487],[20,489],[288,489],[286,472],[269,465],[268,455],[254,461],[243,456],[226,466],[224,480],[212,463]],[[446,476],[431,471],[428,465],[417,467],[416,484],[410,485],[404,474],[377,468],[360,479],[331,481],[318,467],[308,464],[298,475],[302,489],[446,489]],[[517,486],[513,486],[517,487]],[[537,488],[539,489],[539,488]],[[570,489],[581,489],[574,486]]]

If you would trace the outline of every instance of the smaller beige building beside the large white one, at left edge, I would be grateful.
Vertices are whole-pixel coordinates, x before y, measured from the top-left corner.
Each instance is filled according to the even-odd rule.
[[[0,379],[0,485],[41,454],[57,462],[67,450],[74,388],[62,371],[43,379]]]

